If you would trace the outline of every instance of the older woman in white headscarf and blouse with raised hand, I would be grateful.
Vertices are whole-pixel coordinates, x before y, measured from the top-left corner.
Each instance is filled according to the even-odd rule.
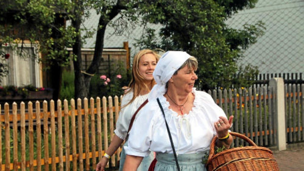
[[[150,150],[156,152],[154,170],[177,170],[177,163],[181,170],[206,170],[202,157],[214,135],[217,146],[230,147],[233,116],[228,120],[208,93],[193,88],[197,65],[186,52],[168,51],[161,57],[153,72],[157,84],[130,132],[123,170],[136,170]]]

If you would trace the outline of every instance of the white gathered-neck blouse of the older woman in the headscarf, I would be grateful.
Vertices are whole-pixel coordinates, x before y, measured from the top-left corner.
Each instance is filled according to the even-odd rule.
[[[163,95],[158,96],[178,154],[208,150],[216,135],[214,122],[219,120],[219,116],[226,117],[208,93],[195,89],[192,92],[195,95],[192,110],[183,116],[169,109],[169,102]],[[149,101],[140,111],[140,116],[130,131],[128,146],[124,148],[126,154],[142,157],[149,155],[149,149],[173,153],[165,120],[156,99]]]

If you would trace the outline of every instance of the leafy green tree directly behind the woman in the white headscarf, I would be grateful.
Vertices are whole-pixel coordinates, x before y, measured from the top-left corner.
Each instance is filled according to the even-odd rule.
[[[147,29],[138,40],[142,48],[157,47],[164,50],[181,50],[198,58],[198,84],[208,90],[232,85],[247,86],[247,79],[236,79],[236,74],[255,75],[257,68],[238,68],[237,61],[242,52],[257,37],[263,35],[263,23],[244,25],[244,29],[228,28],[225,24],[232,13],[244,8],[253,8],[257,0],[222,1],[158,1],[142,5],[143,23],[160,23],[163,27],[158,35]],[[159,38],[158,38],[159,39]]]

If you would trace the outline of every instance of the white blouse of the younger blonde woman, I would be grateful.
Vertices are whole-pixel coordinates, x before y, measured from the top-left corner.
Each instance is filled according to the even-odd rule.
[[[131,119],[133,117],[133,114],[140,107],[140,105],[143,104],[143,102],[148,98],[148,95],[149,95],[149,93],[145,94],[145,95],[142,95],[142,96],[141,95],[137,96],[134,99],[134,101],[132,103],[128,104],[127,106],[125,106],[125,105],[127,103],[129,103],[130,100],[132,99],[133,92],[132,91],[128,92],[127,94],[125,94],[123,96],[123,99],[121,100],[121,105],[120,106],[122,106],[122,107],[124,106],[124,107],[121,108],[121,110],[119,112],[119,116],[118,116],[118,119],[116,121],[116,129],[114,130],[114,133],[120,139],[124,140],[126,138],[127,132],[128,132],[128,129],[129,129],[129,125],[130,125]],[[141,110],[143,110],[143,108]],[[136,114],[135,120],[140,115],[140,111]]]

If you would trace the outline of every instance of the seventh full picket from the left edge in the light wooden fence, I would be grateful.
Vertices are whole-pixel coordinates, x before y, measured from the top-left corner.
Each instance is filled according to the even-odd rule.
[[[52,171],[56,171],[56,135],[55,135],[55,104],[54,100],[50,100],[50,116],[51,116],[51,148],[52,148]]]

